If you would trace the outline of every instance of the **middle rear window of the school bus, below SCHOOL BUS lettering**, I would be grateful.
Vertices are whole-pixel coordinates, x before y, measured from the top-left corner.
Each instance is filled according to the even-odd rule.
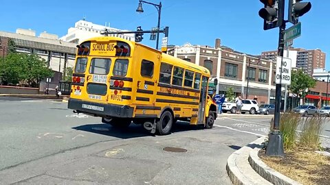
[[[109,58],[93,58],[89,73],[98,75],[107,75],[110,70],[111,59]]]

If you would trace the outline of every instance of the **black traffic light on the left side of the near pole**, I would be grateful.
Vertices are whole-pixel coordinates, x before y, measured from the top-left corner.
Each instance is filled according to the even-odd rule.
[[[263,18],[263,29],[272,29],[282,24],[281,11],[278,9],[279,3],[283,0],[260,0],[264,8],[259,10],[259,16]]]

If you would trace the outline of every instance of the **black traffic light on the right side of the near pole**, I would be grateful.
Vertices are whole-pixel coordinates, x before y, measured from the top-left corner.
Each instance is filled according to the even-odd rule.
[[[296,25],[298,23],[298,17],[303,16],[309,10],[311,10],[310,2],[300,2],[302,0],[289,0],[289,14],[287,20]]]

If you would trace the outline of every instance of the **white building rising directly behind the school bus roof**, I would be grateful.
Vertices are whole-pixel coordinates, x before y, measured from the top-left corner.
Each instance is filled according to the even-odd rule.
[[[89,21],[86,21],[85,18],[74,24],[74,27],[67,29],[67,34],[60,38],[60,40],[66,42],[80,43],[83,40],[88,38],[101,36],[101,33],[107,29],[109,32],[127,32],[128,30],[122,30],[113,28],[106,25],[96,25]],[[109,36],[118,36],[126,40],[135,40],[135,34],[109,34]]]

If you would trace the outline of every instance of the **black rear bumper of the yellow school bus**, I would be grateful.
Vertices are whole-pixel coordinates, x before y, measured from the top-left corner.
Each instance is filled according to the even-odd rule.
[[[90,101],[82,101],[80,99],[70,98],[67,108],[76,110],[78,113],[89,114],[100,117],[122,117],[131,118],[133,116],[133,108],[130,106],[118,106],[113,104],[95,103]]]

